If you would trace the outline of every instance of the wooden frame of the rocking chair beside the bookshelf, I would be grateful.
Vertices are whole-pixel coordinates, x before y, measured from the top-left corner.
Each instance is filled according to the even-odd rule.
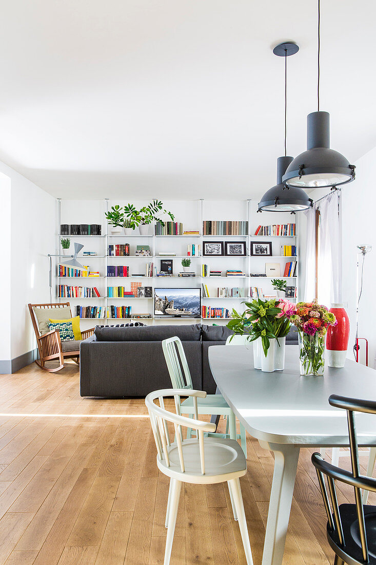
[[[30,316],[33,323],[34,332],[37,338],[37,345],[39,351],[40,359],[36,359],[34,363],[38,365],[41,369],[45,371],[49,371],[50,373],[56,373],[56,371],[60,371],[64,367],[64,359],[73,359],[75,363],[80,364],[80,347],[75,349],[74,351],[63,351],[62,342],[60,341],[60,332],[58,329],[54,329],[51,332],[41,334],[39,331],[38,320],[34,315],[33,307],[37,308],[63,308],[68,306],[69,302],[59,302],[58,304],[28,304]],[[86,329],[82,333],[82,340],[86,340],[86,338],[93,335],[95,328]],[[59,361],[59,367],[56,368],[48,368],[45,367],[46,361]]]

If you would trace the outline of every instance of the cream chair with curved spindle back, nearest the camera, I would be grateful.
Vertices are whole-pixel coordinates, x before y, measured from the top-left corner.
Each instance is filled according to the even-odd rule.
[[[170,396],[174,397],[176,412],[165,409],[164,398]],[[193,418],[181,415],[181,396],[192,399]],[[237,512],[247,564],[252,565],[251,546],[239,483],[239,477],[247,472],[247,460],[236,440],[205,437],[205,434],[213,433],[216,429],[215,424],[198,419],[198,401],[206,396],[203,390],[182,388],[156,390],[148,394],[145,399],[158,451],[157,465],[164,475],[170,477],[164,565],[170,563],[182,483],[214,484],[225,481],[228,483]],[[156,400],[159,401],[159,406],[155,403]],[[169,435],[169,423],[174,426],[174,442]],[[196,437],[184,439],[183,428],[195,430]]]

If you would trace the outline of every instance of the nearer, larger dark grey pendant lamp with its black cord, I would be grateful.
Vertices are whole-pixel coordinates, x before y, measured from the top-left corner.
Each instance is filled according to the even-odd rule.
[[[317,112],[307,116],[307,151],[292,160],[282,177],[291,188],[335,188],[355,179],[355,165],[330,149],[329,113],[320,112],[320,0],[317,40]]]

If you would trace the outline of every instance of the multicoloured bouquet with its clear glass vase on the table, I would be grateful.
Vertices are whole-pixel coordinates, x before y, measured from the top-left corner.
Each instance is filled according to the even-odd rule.
[[[329,326],[337,320],[326,306],[312,302],[298,302],[296,312],[290,316],[299,332],[299,357],[301,375],[323,375],[325,364],[325,336]]]

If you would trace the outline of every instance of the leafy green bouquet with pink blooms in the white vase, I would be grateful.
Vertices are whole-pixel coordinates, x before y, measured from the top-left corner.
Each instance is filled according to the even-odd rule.
[[[233,320],[227,327],[235,334],[243,336],[248,334],[249,341],[261,338],[264,354],[268,353],[270,340],[285,337],[290,329],[291,317],[295,314],[295,305],[290,301],[280,298],[270,300],[252,300],[244,302],[247,309],[242,314],[232,311]]]

